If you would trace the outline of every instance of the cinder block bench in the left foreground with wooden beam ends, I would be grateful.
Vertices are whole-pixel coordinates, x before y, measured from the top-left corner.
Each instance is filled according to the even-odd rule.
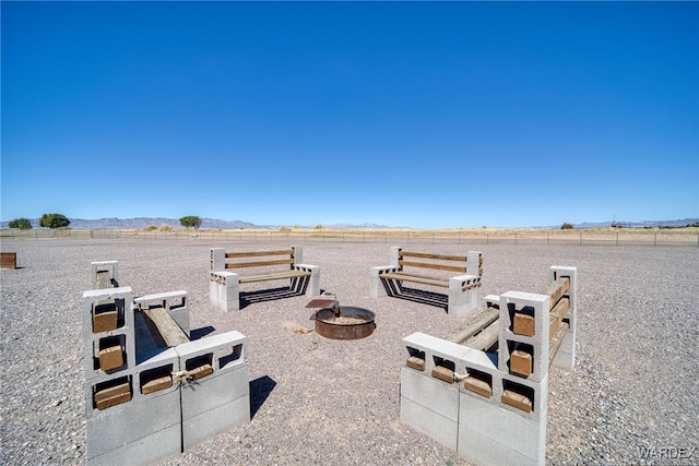
[[[188,301],[83,294],[87,465],[154,464],[250,420],[246,337],[190,342]]]

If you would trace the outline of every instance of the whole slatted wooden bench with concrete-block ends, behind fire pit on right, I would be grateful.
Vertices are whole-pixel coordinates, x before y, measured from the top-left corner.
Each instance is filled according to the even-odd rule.
[[[405,291],[403,283],[410,282],[447,288],[447,312],[454,315],[465,315],[478,307],[483,275],[481,252],[449,255],[392,247],[390,260],[391,265],[371,268],[371,297],[400,297]]]

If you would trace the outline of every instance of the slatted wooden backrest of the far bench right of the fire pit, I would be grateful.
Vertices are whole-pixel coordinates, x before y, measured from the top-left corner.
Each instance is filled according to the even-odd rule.
[[[482,265],[483,253],[479,251],[469,251],[466,255],[449,255],[405,251],[398,246],[391,247],[391,266],[401,271],[404,267],[418,267],[479,277],[483,275]]]

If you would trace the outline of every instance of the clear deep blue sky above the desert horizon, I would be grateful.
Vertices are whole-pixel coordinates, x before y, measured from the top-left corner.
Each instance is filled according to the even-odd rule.
[[[697,2],[0,8],[2,220],[699,217]]]

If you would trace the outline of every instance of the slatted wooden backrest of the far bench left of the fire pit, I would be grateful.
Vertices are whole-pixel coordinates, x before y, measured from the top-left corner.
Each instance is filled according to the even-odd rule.
[[[223,248],[211,248],[210,271],[223,272],[229,268],[268,267],[274,265],[294,265],[303,262],[304,248],[292,246],[291,249],[275,251],[238,251],[226,252]],[[262,259],[262,260],[260,260]]]

